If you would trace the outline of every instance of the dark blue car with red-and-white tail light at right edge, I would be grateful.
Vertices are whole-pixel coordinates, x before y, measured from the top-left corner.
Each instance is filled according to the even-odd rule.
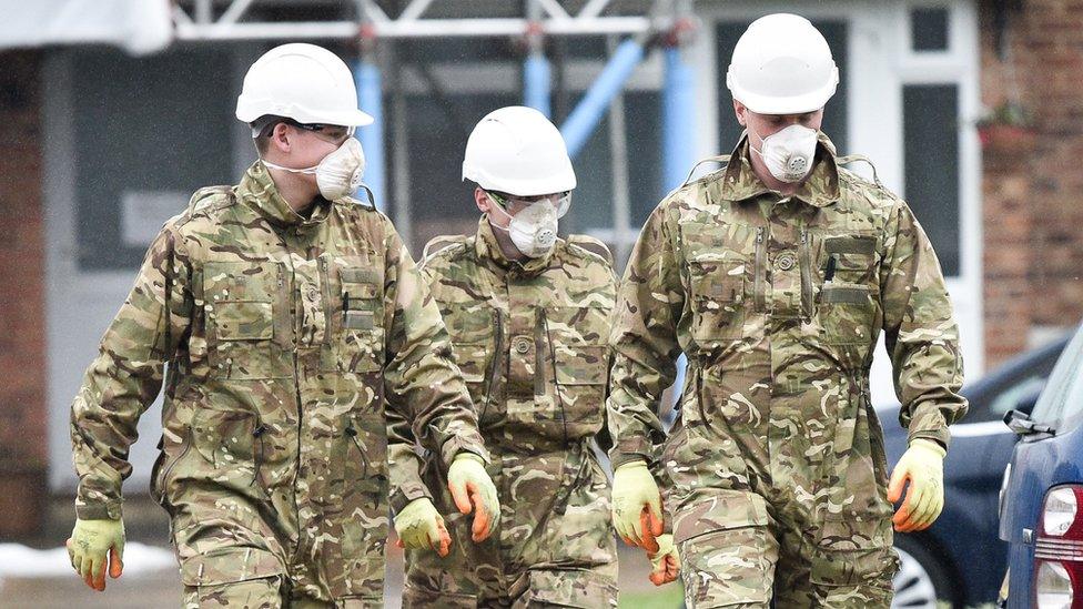
[[[1000,519],[1008,607],[1083,607],[1083,325],[1033,410],[1004,420],[1019,435]]]

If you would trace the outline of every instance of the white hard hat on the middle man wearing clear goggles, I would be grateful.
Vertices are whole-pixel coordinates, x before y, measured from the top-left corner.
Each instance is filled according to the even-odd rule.
[[[560,132],[545,114],[522,105],[494,110],[477,123],[466,141],[463,180],[517,196],[576,187]]]

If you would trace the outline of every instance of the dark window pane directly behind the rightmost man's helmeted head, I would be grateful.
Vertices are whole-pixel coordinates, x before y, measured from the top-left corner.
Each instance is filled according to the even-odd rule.
[[[720,153],[728,153],[737,145],[737,138],[741,134],[741,126],[737,124],[733,116],[733,103],[729,89],[726,87],[726,73],[729,70],[729,62],[733,58],[733,47],[737,40],[745,33],[751,21],[725,21],[718,23],[715,29],[715,49],[718,70],[718,146]],[[839,154],[846,154],[848,120],[847,120],[847,23],[843,21],[812,21],[828,45],[831,47],[831,54],[834,63],[839,67],[839,89],[834,97],[828,102],[823,111],[822,131],[831,138],[834,145],[839,149]]]

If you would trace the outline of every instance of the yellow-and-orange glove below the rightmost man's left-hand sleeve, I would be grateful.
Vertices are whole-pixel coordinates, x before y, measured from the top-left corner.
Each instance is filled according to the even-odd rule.
[[[613,473],[613,527],[625,544],[658,551],[661,494],[645,461],[626,463]]]

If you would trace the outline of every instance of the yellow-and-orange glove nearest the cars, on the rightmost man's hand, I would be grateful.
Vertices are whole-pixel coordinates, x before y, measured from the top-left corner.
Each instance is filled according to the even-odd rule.
[[[912,532],[924,530],[932,525],[944,509],[944,456],[943,446],[928,439],[917,438],[902,454],[891,473],[888,484],[888,500],[894,504],[902,497],[902,487],[909,480],[910,488],[902,506],[895,510],[897,531]]]

